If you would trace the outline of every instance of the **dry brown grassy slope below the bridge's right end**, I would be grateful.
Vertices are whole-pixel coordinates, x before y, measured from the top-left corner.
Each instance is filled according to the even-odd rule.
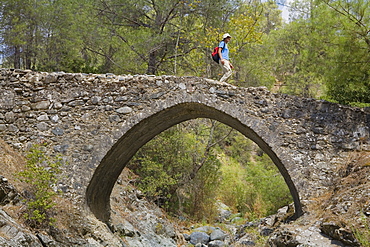
[[[309,211],[315,218],[334,221],[347,229],[363,227],[362,210],[370,202],[370,152],[353,152],[338,167],[339,178],[327,193],[313,198]],[[370,223],[369,219],[367,222]]]

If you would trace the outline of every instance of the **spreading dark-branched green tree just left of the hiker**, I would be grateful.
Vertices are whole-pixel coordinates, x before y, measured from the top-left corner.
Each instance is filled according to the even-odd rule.
[[[126,70],[133,64],[130,70],[136,73],[200,75],[205,69],[198,67],[206,64],[197,37],[205,35],[207,27],[222,26],[238,2],[105,0],[98,15],[121,47],[111,59]]]

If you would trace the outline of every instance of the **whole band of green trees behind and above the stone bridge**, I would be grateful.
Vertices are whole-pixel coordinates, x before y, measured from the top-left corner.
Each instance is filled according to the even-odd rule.
[[[230,83],[370,103],[369,1],[299,0],[283,23],[273,1],[3,0],[2,66],[42,71],[175,74],[219,79],[223,33]]]

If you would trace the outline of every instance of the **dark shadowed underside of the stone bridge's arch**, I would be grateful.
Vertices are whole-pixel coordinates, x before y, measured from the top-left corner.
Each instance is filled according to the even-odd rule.
[[[269,145],[255,131],[242,124],[239,120],[201,103],[181,103],[153,114],[134,125],[112,146],[96,168],[86,190],[86,203],[92,213],[99,220],[109,223],[112,189],[123,168],[134,154],[162,131],[181,122],[196,118],[217,120],[238,130],[244,136],[254,141],[278,167],[288,185],[294,201],[294,218],[302,215],[303,211],[297,188],[287,169]]]

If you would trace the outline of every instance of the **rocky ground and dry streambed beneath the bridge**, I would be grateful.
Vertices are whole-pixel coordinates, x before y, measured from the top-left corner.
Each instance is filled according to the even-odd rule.
[[[57,222],[31,229],[21,216],[27,185],[14,173],[24,158],[0,141],[0,246],[370,246],[370,153],[353,153],[338,167],[341,178],[320,198],[303,201],[304,215],[290,221],[292,207],[250,222],[220,204],[219,223],[173,219],[131,185],[125,170],[111,195],[109,226],[85,215],[67,197],[56,199]]]

